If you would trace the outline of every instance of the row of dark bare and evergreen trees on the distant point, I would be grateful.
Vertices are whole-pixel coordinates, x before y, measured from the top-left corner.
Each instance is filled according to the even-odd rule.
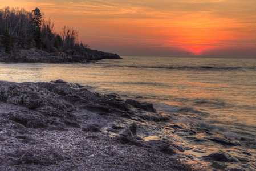
[[[23,8],[0,9],[0,38],[9,54],[23,48],[47,52],[89,49],[87,44],[78,41],[78,31],[72,27],[64,26],[62,32],[56,33],[54,22],[51,18],[45,19],[37,7],[31,12]]]

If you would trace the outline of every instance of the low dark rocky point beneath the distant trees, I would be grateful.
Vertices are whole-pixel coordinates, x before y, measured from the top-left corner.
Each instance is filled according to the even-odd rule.
[[[0,62],[19,63],[90,63],[101,59],[122,59],[117,54],[97,50],[66,50],[64,52],[45,52],[36,48],[19,50],[6,54],[0,49]]]

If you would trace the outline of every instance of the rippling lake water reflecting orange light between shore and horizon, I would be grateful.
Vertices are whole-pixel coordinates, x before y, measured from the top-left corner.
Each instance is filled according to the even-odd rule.
[[[101,93],[144,96],[161,112],[200,117],[194,121],[231,137],[256,137],[256,59],[125,57],[94,64],[0,63],[0,80],[56,79],[92,86]]]

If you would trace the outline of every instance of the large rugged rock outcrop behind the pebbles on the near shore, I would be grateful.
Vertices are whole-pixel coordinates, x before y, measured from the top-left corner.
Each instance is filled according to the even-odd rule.
[[[21,110],[2,110],[1,117],[24,128],[75,127],[83,128],[84,131],[102,132],[103,129],[109,129],[106,128],[108,123],[120,118],[133,121],[166,120],[166,117],[156,112],[152,104],[135,100],[127,103],[131,99],[125,101],[118,95],[94,93],[80,84],[63,80],[50,83],[1,81],[0,86],[2,103],[23,107]],[[127,122],[127,127],[127,131],[134,135],[136,124]],[[119,128],[112,127],[116,131]],[[121,131],[124,132],[123,129]]]

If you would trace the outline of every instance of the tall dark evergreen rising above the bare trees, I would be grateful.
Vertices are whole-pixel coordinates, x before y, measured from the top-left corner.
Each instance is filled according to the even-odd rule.
[[[34,39],[36,43],[36,48],[42,48],[42,38],[41,38],[41,22],[42,14],[40,10],[36,7],[35,10],[32,10],[32,22],[34,23]]]

